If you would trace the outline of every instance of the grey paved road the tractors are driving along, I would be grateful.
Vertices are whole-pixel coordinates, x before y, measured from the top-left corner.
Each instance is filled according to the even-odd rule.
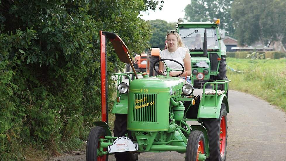
[[[196,90],[196,93],[201,91]],[[271,96],[270,96],[271,97]],[[279,101],[279,100],[277,100]],[[286,114],[252,95],[229,91],[227,160],[286,160]],[[54,159],[54,158],[51,158]],[[55,158],[62,161],[85,160],[83,155]],[[185,160],[177,152],[141,153],[139,161]],[[109,161],[115,161],[113,155]]]

